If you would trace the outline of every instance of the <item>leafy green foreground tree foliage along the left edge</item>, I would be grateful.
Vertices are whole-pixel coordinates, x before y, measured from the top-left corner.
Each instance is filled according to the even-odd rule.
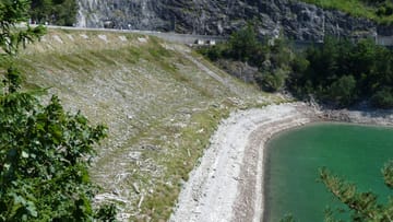
[[[28,7],[26,0],[0,2],[0,221],[114,220],[114,206],[93,209],[97,187],[87,172],[105,127],[64,112],[56,95],[44,105],[45,92],[21,89],[15,55],[45,32],[15,27]]]

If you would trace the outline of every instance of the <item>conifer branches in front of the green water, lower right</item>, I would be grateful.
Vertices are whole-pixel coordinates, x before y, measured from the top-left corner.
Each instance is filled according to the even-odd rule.
[[[382,170],[383,179],[389,188],[393,188],[393,161],[390,161]],[[393,199],[385,205],[378,201],[376,194],[371,191],[359,192],[354,184],[349,184],[338,176],[332,175],[326,168],[320,170],[320,178],[327,190],[341,202],[346,205],[352,212],[352,221],[393,221]],[[334,222],[332,213],[325,221]]]

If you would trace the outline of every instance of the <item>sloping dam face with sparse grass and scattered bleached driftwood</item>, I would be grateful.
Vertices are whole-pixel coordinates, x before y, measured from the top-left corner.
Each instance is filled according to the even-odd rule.
[[[119,203],[123,220],[167,219],[219,120],[275,100],[186,46],[141,35],[49,31],[17,63],[25,87],[49,87],[109,127],[92,174],[97,202]]]

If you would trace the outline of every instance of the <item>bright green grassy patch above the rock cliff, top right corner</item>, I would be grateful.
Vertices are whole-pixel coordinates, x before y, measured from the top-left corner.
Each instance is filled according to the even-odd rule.
[[[354,16],[368,17],[379,23],[393,22],[393,2],[391,0],[302,0],[322,8],[336,9]]]

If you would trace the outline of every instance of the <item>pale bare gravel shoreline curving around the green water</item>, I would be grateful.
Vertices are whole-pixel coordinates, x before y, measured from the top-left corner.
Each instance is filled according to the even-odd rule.
[[[169,221],[262,221],[266,141],[321,120],[392,126],[393,112],[321,110],[298,102],[233,113],[190,173]]]

